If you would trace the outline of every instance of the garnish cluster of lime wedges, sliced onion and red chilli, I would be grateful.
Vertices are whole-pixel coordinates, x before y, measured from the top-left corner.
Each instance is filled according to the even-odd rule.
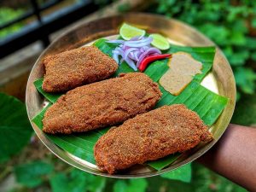
[[[112,51],[113,60],[119,64],[125,61],[134,71],[137,71],[139,68],[140,71],[143,72],[149,62],[170,56],[156,57],[156,55],[161,54],[160,49],[166,50],[170,48],[168,40],[160,34],[154,33],[149,35],[149,37],[144,37],[146,34],[145,30],[130,26],[126,23],[120,27],[119,34],[121,38],[125,40],[117,39],[107,42],[119,44],[119,46]],[[119,56],[121,56],[120,61]],[[146,60],[146,58],[148,59]]]

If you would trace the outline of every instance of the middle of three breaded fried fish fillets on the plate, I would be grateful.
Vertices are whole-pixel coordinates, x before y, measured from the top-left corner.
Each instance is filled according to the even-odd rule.
[[[87,84],[68,91],[49,107],[43,131],[70,134],[119,124],[153,108],[160,96],[158,85],[144,73]]]

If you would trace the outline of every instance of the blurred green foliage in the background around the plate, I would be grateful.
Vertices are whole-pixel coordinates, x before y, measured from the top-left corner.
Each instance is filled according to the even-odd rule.
[[[13,2],[1,6],[0,25],[26,12],[26,1]],[[96,3],[108,6],[104,0]],[[118,8],[121,13],[129,10],[129,3]],[[236,78],[237,103],[232,122],[256,125],[256,1],[159,0],[149,3],[143,11],[183,20],[218,44]],[[1,30],[0,38],[25,25],[20,22]],[[0,106],[0,191],[246,191],[197,163],[159,177],[128,180],[80,172],[55,158],[34,136],[27,120],[20,124],[26,119],[24,103],[2,94]],[[15,113],[16,119],[9,119],[9,113]]]

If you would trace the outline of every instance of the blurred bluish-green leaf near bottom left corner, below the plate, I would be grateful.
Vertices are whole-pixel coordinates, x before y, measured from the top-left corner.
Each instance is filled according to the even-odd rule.
[[[44,182],[44,177],[52,172],[53,168],[52,165],[43,161],[33,161],[15,166],[15,177],[18,183],[34,188]]]

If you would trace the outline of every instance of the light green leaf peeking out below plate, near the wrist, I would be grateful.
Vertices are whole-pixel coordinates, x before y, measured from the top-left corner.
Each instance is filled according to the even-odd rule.
[[[166,172],[160,176],[189,183],[191,181],[191,173],[191,164],[189,163],[185,166],[179,167],[176,170],[173,170],[172,172]]]

